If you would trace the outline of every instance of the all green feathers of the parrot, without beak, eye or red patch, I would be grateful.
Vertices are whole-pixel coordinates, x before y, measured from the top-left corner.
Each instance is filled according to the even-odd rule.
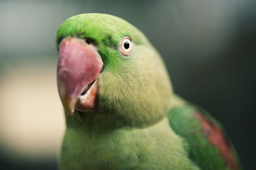
[[[133,42],[129,56],[118,51],[124,36]],[[136,27],[110,15],[82,14],[60,25],[58,48],[65,37],[92,39],[104,68],[97,110],[65,114],[61,169],[229,169],[202,135],[197,108],[174,95],[160,55]]]

